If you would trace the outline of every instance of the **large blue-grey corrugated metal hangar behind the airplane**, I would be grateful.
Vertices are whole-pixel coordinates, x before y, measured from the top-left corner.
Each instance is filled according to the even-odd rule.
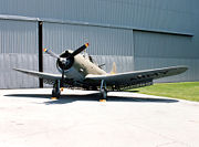
[[[118,72],[187,65],[157,82],[199,81],[198,0],[1,0],[0,88],[39,87],[12,71],[54,73],[55,53],[90,42],[87,52]]]

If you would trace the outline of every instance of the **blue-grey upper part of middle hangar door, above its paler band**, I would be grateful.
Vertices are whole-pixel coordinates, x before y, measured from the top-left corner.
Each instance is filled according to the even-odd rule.
[[[43,23],[43,45],[57,53],[88,42],[93,55],[134,55],[133,31],[113,28]]]

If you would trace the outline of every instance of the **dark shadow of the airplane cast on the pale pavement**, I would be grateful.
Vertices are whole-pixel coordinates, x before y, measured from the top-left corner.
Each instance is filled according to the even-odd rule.
[[[28,97],[28,98],[51,98],[51,94],[9,94],[4,96],[14,96],[14,97]],[[44,102],[46,105],[50,104],[67,104],[76,101],[93,101],[96,102],[101,98],[100,93],[86,94],[86,95],[70,95],[63,94],[57,101]],[[142,102],[142,103],[177,103],[177,99],[171,98],[154,98],[153,96],[148,97],[134,97],[134,96],[107,96],[107,102]]]

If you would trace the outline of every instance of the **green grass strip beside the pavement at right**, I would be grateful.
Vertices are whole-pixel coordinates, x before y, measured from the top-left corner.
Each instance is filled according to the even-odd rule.
[[[160,83],[128,91],[138,91],[138,93],[142,94],[199,102],[199,82]]]

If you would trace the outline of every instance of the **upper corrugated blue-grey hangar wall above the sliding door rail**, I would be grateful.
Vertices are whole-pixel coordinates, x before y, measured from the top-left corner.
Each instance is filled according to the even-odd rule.
[[[1,14],[192,32],[198,0],[1,0]]]

